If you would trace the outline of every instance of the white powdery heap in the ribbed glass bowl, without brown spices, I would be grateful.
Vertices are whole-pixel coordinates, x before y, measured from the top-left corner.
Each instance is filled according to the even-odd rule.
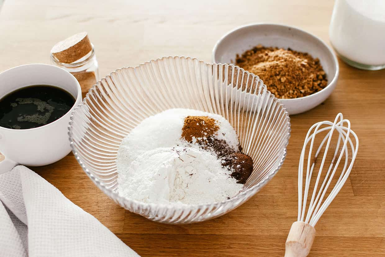
[[[147,203],[199,204],[221,202],[241,190],[243,185],[230,177],[215,153],[181,139],[186,116],[216,119],[216,137],[238,151],[236,132],[222,116],[169,109],[142,121],[119,146],[116,164],[122,195]]]

